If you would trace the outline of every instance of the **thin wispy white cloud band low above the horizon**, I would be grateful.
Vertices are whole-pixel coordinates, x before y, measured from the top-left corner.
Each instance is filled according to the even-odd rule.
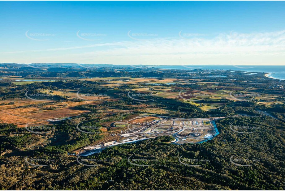
[[[78,53],[69,54],[68,51],[70,50],[78,50]],[[183,62],[182,64],[184,62],[185,64],[202,64],[202,62],[217,64],[224,63],[222,61],[225,60],[243,57],[249,62],[247,64],[258,64],[256,63],[258,59],[268,62],[270,57],[284,58],[285,30],[248,34],[230,32],[221,33],[212,38],[201,35],[192,38],[130,39],[129,41],[95,43],[37,51],[57,51],[58,54],[64,52],[62,59],[59,59],[61,62],[65,59],[65,62],[110,64],[181,64],[178,62]],[[60,56],[58,55],[58,57]],[[174,61],[175,63],[173,63]],[[189,61],[195,63],[189,63]],[[272,59],[272,62],[276,61]],[[280,62],[279,60],[278,63]]]

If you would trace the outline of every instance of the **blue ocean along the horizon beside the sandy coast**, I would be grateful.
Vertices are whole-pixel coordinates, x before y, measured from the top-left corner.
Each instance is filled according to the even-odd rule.
[[[178,69],[178,70],[240,70],[245,72],[266,72],[268,77],[274,79],[285,80],[285,66],[233,66],[233,65],[160,65],[154,66],[162,69]]]

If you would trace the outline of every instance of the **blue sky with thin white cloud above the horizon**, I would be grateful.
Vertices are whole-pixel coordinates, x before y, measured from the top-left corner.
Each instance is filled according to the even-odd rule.
[[[285,65],[283,1],[1,1],[1,63]]]

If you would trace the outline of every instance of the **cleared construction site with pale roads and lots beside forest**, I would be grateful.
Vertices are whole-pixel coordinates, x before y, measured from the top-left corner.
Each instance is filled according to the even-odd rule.
[[[108,139],[108,142],[102,141],[97,145],[87,146],[80,155],[91,155],[109,146],[132,143],[159,136],[173,136],[175,138],[171,142],[173,144],[202,143],[219,134],[214,121],[222,118],[224,117],[170,119],[164,116],[142,114],[127,121],[113,123],[113,126],[120,125],[126,127],[125,131],[121,131],[119,134],[112,134],[114,138],[117,137],[115,135],[118,135],[119,139],[113,141]]]

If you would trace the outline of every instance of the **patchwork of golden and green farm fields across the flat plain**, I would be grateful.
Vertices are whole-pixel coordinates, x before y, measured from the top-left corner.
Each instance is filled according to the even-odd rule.
[[[32,80],[32,79],[24,79],[19,76],[11,76],[6,79],[17,79],[17,80]],[[34,79],[41,80],[41,79]],[[47,80],[47,79],[45,79]],[[54,79],[54,80],[63,80],[63,79]],[[54,80],[50,80],[50,82],[54,82]],[[72,80],[72,79],[68,79]],[[91,82],[100,82],[99,88],[110,88],[109,92],[103,93],[95,93],[91,92],[88,94],[84,94],[80,89],[40,89],[38,92],[41,93],[52,93],[53,95],[57,95],[60,97],[64,97],[67,100],[71,99],[81,99],[83,102],[74,102],[74,101],[65,101],[64,103],[54,103],[50,100],[42,100],[37,101],[37,104],[47,104],[42,107],[29,107],[29,105],[34,104],[33,101],[28,99],[12,99],[1,101],[0,109],[2,111],[2,115],[0,120],[5,123],[14,122],[19,125],[19,127],[23,127],[23,125],[29,121],[31,123],[37,122],[37,120],[48,120],[60,117],[73,117],[78,116],[84,113],[87,113],[87,110],[76,109],[75,107],[78,105],[84,104],[102,104],[105,101],[114,101],[120,100],[114,97],[110,99],[111,95],[115,95],[111,93],[111,89],[117,89],[124,84],[130,85],[130,89],[127,91],[132,91],[135,93],[141,94],[153,94],[156,98],[163,99],[172,99],[172,100],[180,100],[183,103],[189,105],[189,107],[195,109],[198,112],[207,112],[207,111],[216,111],[221,108],[224,104],[221,100],[239,100],[239,99],[256,99],[257,103],[261,106],[270,107],[274,104],[282,104],[281,101],[276,101],[278,95],[269,95],[269,94],[258,94],[255,92],[256,88],[244,88],[244,87],[231,87],[230,83],[218,83],[216,85],[213,82],[204,82],[204,83],[196,83],[195,81],[189,81],[187,79],[177,79],[177,78],[165,78],[165,79],[157,79],[157,78],[89,78],[89,79],[80,79],[82,81],[86,80]],[[49,81],[49,80],[47,80]],[[24,81],[26,82],[26,81]],[[29,81],[29,83],[35,83],[34,81]],[[37,81],[37,83],[41,83],[44,81]],[[190,87],[185,87],[189,86]],[[29,84],[24,83],[24,84]],[[160,84],[160,85],[157,85]],[[22,84],[17,84],[22,85]],[[179,85],[179,87],[178,87]],[[181,87],[182,86],[182,87]],[[193,88],[195,87],[195,88]],[[253,91],[251,91],[253,90]],[[81,91],[81,92],[79,92]],[[79,93],[78,93],[79,92]],[[92,94],[93,93],[93,94]],[[235,96],[233,96],[235,95]],[[249,95],[249,96],[248,96]],[[254,96],[257,95],[257,96]],[[13,101],[13,105],[7,105],[10,101]],[[225,101],[224,101],[225,102]],[[139,109],[140,112],[152,113],[152,114],[169,114],[174,112],[169,108],[152,108],[153,104],[150,104],[148,107],[144,109]],[[133,107],[136,107],[135,105]],[[15,115],[12,115],[15,114]],[[27,118],[30,117],[30,118]],[[33,118],[33,119],[32,119]],[[47,122],[44,122],[47,123]]]

